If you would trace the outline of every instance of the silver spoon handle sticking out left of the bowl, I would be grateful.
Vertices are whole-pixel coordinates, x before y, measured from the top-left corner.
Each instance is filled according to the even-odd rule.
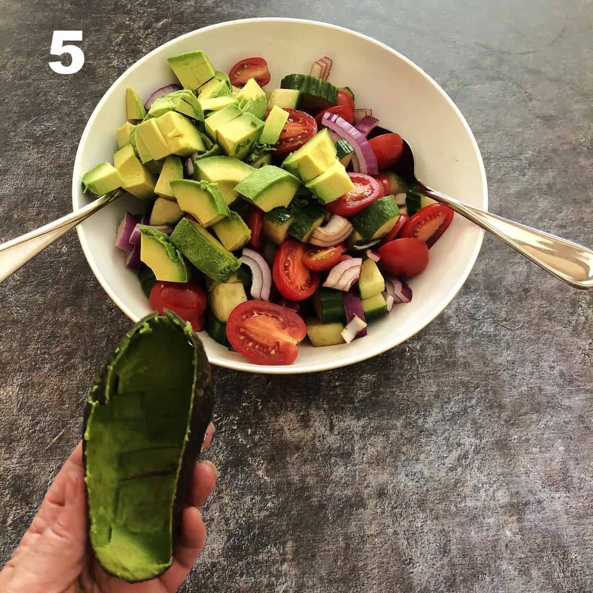
[[[13,272],[27,263],[32,257],[44,250],[49,244],[86,220],[107,204],[110,204],[122,194],[120,190],[106,193],[98,197],[94,202],[79,208],[75,212],[66,214],[58,220],[49,222],[43,227],[34,229],[4,243],[0,243],[0,282],[4,282]]]

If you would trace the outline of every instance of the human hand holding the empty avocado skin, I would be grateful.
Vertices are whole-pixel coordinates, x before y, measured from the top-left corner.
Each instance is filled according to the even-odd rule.
[[[203,449],[212,440],[206,431]],[[2,593],[174,593],[206,541],[199,509],[211,495],[216,468],[196,464],[192,491],[181,519],[173,565],[157,579],[130,584],[107,575],[94,559],[87,533],[87,496],[82,443],[74,449],[47,490],[27,533],[0,571]]]

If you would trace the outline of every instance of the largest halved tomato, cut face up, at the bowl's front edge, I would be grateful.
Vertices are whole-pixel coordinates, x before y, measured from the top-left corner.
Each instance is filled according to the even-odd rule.
[[[294,312],[267,301],[245,301],[228,317],[227,338],[237,352],[258,365],[289,365],[307,335]]]

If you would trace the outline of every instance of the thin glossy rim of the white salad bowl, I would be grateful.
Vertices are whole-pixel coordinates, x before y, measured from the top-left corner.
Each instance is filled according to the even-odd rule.
[[[229,25],[236,25],[236,24],[241,24],[241,23],[266,23],[266,22],[268,22],[268,23],[272,23],[272,22],[301,23],[301,24],[306,24],[306,25],[310,25],[313,27],[330,28],[330,29],[334,29],[337,31],[342,31],[343,33],[348,33],[350,35],[354,35],[356,37],[359,37],[359,38],[365,40],[366,42],[373,43],[373,44],[381,47],[382,49],[387,50],[388,52],[390,52],[394,56],[396,56],[398,59],[403,60],[404,62],[407,63],[407,65],[411,66],[413,69],[415,69],[417,72],[419,72],[420,75],[422,75],[424,78],[426,78],[426,80],[428,80],[428,82],[430,84],[432,84],[433,87],[436,88],[436,90],[442,95],[442,97],[445,99],[445,101],[447,101],[449,106],[452,107],[452,109],[455,111],[455,114],[457,114],[458,118],[460,119],[461,124],[463,125],[466,132],[468,133],[468,136],[471,141],[471,145],[472,145],[474,152],[476,153],[476,156],[477,156],[477,160],[478,160],[479,167],[480,167],[480,176],[482,177],[482,184],[483,184],[483,188],[484,188],[483,195],[482,195],[482,200],[483,200],[482,208],[484,210],[487,210],[487,208],[488,208],[488,186],[487,186],[487,180],[486,180],[486,170],[484,168],[484,162],[482,160],[482,153],[480,152],[480,148],[477,145],[476,138],[474,137],[474,134],[471,131],[471,128],[468,125],[466,118],[461,113],[460,109],[457,107],[457,105],[454,103],[454,101],[451,99],[451,97],[449,97],[449,95],[444,91],[444,89],[429,74],[427,74],[422,68],[420,68],[420,66],[418,66],[414,62],[412,62],[412,60],[410,60],[409,58],[406,58],[406,56],[404,56],[397,50],[393,49],[393,47],[390,47],[387,44],[378,41],[377,39],[373,39],[372,37],[369,37],[368,35],[365,35],[364,33],[358,33],[358,31],[353,31],[352,29],[349,29],[346,27],[341,27],[340,25],[325,23],[323,21],[314,21],[314,20],[310,20],[310,19],[288,18],[288,17],[286,17],[286,18],[285,17],[240,18],[240,19],[235,19],[232,21],[224,21],[222,23],[215,23],[212,25],[208,25],[207,27],[200,27],[193,31],[189,31],[188,33],[184,33],[183,35],[174,37],[173,39],[169,40],[168,42],[162,43],[160,46],[157,46],[150,52],[146,53],[146,55],[142,56],[142,58],[136,60],[136,62],[134,62],[131,66],[129,66],[129,68],[126,68],[126,70],[124,72],[122,72],[122,74],[120,74],[120,76],[118,76],[117,79],[110,85],[110,87],[107,89],[107,91],[105,91],[105,93],[103,94],[103,97],[101,97],[101,99],[95,106],[95,109],[93,110],[93,113],[91,113],[90,117],[88,118],[87,125],[85,126],[85,128],[82,132],[81,138],[78,142],[78,148],[76,149],[76,157],[74,160],[74,167],[72,170],[72,208],[74,210],[76,210],[78,208],[82,208],[82,206],[83,206],[83,204],[79,204],[78,199],[76,197],[79,193],[79,180],[78,180],[78,176],[76,175],[76,171],[78,171],[79,166],[80,166],[80,161],[82,158],[82,146],[84,146],[87,143],[87,136],[90,133],[91,123],[93,122],[93,120],[95,119],[97,114],[100,113],[101,109],[103,109],[103,105],[106,103],[106,101],[110,97],[111,93],[113,93],[114,88],[119,84],[119,82],[123,78],[125,78],[130,73],[130,71],[132,71],[133,69],[139,68],[139,66],[142,63],[151,59],[151,57],[154,53],[160,52],[164,47],[173,45],[173,44],[177,43],[178,41],[180,41],[181,39],[186,39],[187,37],[191,37],[191,36],[195,35],[198,31],[211,31],[211,30],[215,30],[217,28],[228,27]],[[138,321],[139,317],[137,315],[133,314],[132,311],[130,310],[130,308],[127,307],[126,303],[122,299],[120,299],[111,290],[111,286],[109,285],[109,283],[106,281],[106,279],[101,274],[101,272],[98,268],[97,262],[95,260],[93,251],[88,246],[84,228],[81,225],[78,225],[76,227],[76,232],[78,233],[78,239],[80,241],[82,251],[87,259],[87,262],[88,262],[91,270],[93,271],[95,278],[97,278],[100,285],[103,287],[104,291],[107,293],[107,295],[109,296],[111,301],[113,301],[114,304],[116,304],[117,307],[119,307],[119,309],[120,309],[120,311],[122,311],[122,313],[124,313],[132,321],[134,321],[134,322]],[[457,295],[457,293],[461,289],[461,286],[463,286],[464,283],[466,282],[467,277],[470,275],[470,272],[473,269],[474,264],[476,263],[477,256],[480,253],[480,248],[482,248],[483,238],[484,238],[484,231],[483,231],[483,229],[480,229],[479,235],[476,240],[476,244],[474,245],[473,251],[470,254],[466,268],[464,269],[463,273],[459,276],[455,285],[452,287],[451,291],[449,292],[449,298],[445,299],[445,301],[442,304],[442,307],[439,307],[437,310],[435,310],[435,314],[431,315],[431,317],[429,318],[428,321],[426,321],[425,323],[423,323],[422,325],[417,327],[417,329],[409,331],[407,334],[404,334],[404,336],[402,336],[401,339],[398,339],[398,341],[394,344],[388,343],[387,346],[379,345],[377,347],[377,349],[375,349],[375,348],[369,349],[368,351],[361,353],[358,356],[352,356],[350,358],[347,358],[347,357],[336,358],[335,364],[333,364],[333,363],[331,363],[331,364],[310,364],[310,365],[307,365],[305,368],[302,368],[302,367],[299,368],[299,367],[295,367],[293,365],[286,365],[286,366],[256,365],[251,362],[248,362],[247,360],[245,362],[232,361],[232,360],[227,360],[225,358],[219,358],[219,356],[216,356],[216,355],[208,355],[209,362],[213,365],[222,366],[224,368],[232,369],[234,371],[255,372],[255,373],[272,374],[272,375],[292,375],[292,374],[302,374],[302,373],[307,373],[307,372],[329,371],[331,369],[341,368],[343,366],[349,366],[349,365],[355,364],[357,362],[362,362],[369,358],[372,358],[374,356],[378,356],[384,352],[387,352],[387,350],[391,350],[392,348],[399,346],[401,343],[406,342],[406,340],[409,340],[410,337],[415,336],[415,334],[419,333],[419,331],[422,331],[429,323],[431,323],[431,321],[435,320],[435,318],[438,317],[438,315],[440,315],[442,313],[442,311],[445,309],[445,307],[447,307],[449,305],[449,303],[455,298],[455,295]]]

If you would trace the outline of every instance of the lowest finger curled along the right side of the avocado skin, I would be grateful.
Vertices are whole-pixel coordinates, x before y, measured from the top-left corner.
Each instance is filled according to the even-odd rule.
[[[173,554],[173,565],[161,576],[161,582],[174,593],[192,569],[193,563],[206,543],[206,526],[195,506],[188,506],[181,519],[180,541]]]

